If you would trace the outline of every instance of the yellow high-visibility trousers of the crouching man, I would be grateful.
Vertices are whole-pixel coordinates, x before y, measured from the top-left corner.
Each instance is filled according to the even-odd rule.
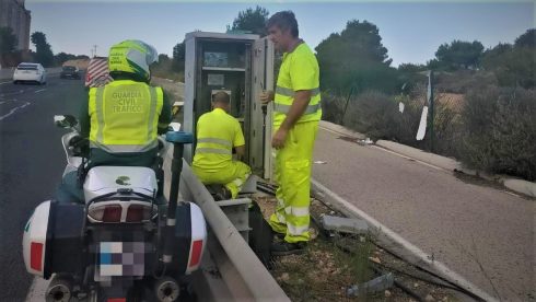
[[[252,174],[252,169],[240,161],[232,161],[218,172],[207,172],[197,166],[193,166],[191,170],[205,185],[224,185],[231,191],[232,198],[236,198],[245,181]]]

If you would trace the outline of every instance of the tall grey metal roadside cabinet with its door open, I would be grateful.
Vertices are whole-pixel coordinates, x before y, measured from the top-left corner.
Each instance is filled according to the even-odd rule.
[[[202,114],[211,111],[212,95],[224,90],[231,96],[230,114],[242,125],[246,140],[245,162],[254,174],[272,178],[271,107],[259,103],[263,90],[273,89],[273,45],[250,34],[193,32],[185,39],[184,126],[196,132]],[[195,143],[185,148],[191,163]]]

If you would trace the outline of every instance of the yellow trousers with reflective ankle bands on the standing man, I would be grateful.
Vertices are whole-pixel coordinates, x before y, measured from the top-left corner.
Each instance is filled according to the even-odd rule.
[[[310,240],[311,169],[317,131],[318,121],[295,124],[284,147],[276,151],[278,205],[269,223],[275,232],[286,234],[284,241],[290,243]]]

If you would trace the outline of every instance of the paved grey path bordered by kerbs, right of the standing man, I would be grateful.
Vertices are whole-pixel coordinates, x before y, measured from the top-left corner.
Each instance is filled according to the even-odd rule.
[[[316,181],[489,294],[536,299],[534,200],[338,138],[318,131]]]

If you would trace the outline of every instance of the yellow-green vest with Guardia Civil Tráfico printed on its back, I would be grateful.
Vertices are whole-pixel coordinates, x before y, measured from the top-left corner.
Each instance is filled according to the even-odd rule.
[[[90,90],[90,147],[110,153],[144,152],[158,147],[164,97],[161,88],[118,80]]]

